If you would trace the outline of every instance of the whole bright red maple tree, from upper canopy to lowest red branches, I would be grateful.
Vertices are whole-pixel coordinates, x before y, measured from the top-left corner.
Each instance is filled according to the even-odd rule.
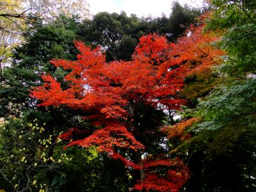
[[[201,59],[196,66],[191,67],[191,63],[187,62],[189,51],[200,50],[190,55],[190,60],[197,60],[200,58],[198,54],[205,54],[204,47],[201,47],[202,38],[198,37],[198,34],[202,35],[198,32],[201,29],[196,30],[191,37],[180,38],[178,44],[170,44],[164,36],[156,34],[142,36],[132,61],[107,63],[100,47],[92,49],[82,42],[76,42],[81,52],[77,55],[77,61],[52,61],[56,67],[69,71],[63,79],[68,83],[68,88],[64,90],[54,77],[45,74],[42,76],[45,83],[35,88],[31,96],[42,101],[40,106],[81,109],[86,113],[84,118],[97,127],[97,131],[90,136],[71,141],[67,147],[97,146],[100,152],[122,160],[125,166],[140,170],[141,180],[134,189],[177,191],[189,178],[188,169],[179,159],[141,159],[147,149],[136,140],[138,130],[134,126],[134,113],[140,104],[156,109],[161,106],[164,110],[180,109],[186,103],[179,98],[184,77],[204,63],[214,63],[214,57],[210,54],[204,56],[204,61]],[[211,42],[213,38],[208,36],[205,40]],[[191,50],[186,49],[186,45]],[[62,138],[70,139],[72,130]],[[134,158],[125,158],[119,153],[120,150],[133,151]],[[153,171],[157,166],[168,168],[164,177]]]

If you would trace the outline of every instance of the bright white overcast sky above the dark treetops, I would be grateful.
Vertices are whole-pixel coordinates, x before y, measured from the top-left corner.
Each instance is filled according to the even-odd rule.
[[[166,16],[170,14],[173,0],[87,0],[90,4],[90,12],[95,15],[98,12],[117,12],[124,10],[127,15],[134,13],[138,16],[153,17]],[[202,6],[203,0],[179,0],[180,4],[189,4],[191,6]]]

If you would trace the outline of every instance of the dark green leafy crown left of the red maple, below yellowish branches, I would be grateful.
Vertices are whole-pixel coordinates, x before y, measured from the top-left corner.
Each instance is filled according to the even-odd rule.
[[[73,20],[74,21],[74,20]],[[56,26],[37,25],[24,34],[25,43],[15,48],[12,65],[4,68],[3,86],[0,89],[1,116],[19,116],[24,109],[33,108],[28,97],[31,86],[40,83],[42,72],[61,74],[49,65],[53,58],[74,58],[76,33]]]

